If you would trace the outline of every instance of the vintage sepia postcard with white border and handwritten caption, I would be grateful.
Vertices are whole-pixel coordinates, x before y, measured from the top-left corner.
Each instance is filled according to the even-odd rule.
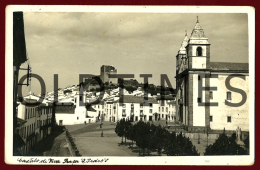
[[[5,162],[253,165],[255,9],[6,7]]]

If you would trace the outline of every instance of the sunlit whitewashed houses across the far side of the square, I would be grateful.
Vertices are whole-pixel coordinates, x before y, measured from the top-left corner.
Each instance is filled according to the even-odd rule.
[[[134,95],[138,94],[138,95]],[[104,92],[95,97],[86,92],[74,98],[60,100],[56,106],[55,118],[58,125],[95,123],[99,121],[116,122],[121,119],[131,121],[175,121],[175,98],[170,96],[151,96],[144,100],[144,93],[137,90],[129,94],[124,90],[120,98],[119,89]],[[85,102],[83,102],[85,101]],[[82,102],[82,104],[80,104]]]

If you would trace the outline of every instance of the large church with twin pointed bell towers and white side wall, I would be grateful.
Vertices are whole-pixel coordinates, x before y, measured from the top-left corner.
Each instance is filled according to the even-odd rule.
[[[210,62],[197,20],[176,56],[176,119],[189,131],[249,131],[248,63]]]

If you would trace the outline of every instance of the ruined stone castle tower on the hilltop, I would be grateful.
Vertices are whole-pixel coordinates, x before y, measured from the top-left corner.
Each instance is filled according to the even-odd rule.
[[[117,74],[117,69],[113,66],[109,65],[103,65],[100,68],[100,79],[103,83],[109,83],[109,84],[117,84],[118,79],[117,78],[109,78],[109,74]]]

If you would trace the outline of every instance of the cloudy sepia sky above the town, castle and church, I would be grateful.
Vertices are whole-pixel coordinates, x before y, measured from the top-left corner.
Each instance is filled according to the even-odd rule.
[[[248,63],[247,14],[24,12],[28,63],[47,92],[53,91],[54,74],[64,88],[77,85],[79,74],[99,75],[102,65],[134,74],[139,82],[140,74],[152,74],[148,81],[155,85],[167,74],[175,88],[176,55],[197,16],[211,44],[211,61]],[[30,90],[40,93],[34,78],[23,93]]]

